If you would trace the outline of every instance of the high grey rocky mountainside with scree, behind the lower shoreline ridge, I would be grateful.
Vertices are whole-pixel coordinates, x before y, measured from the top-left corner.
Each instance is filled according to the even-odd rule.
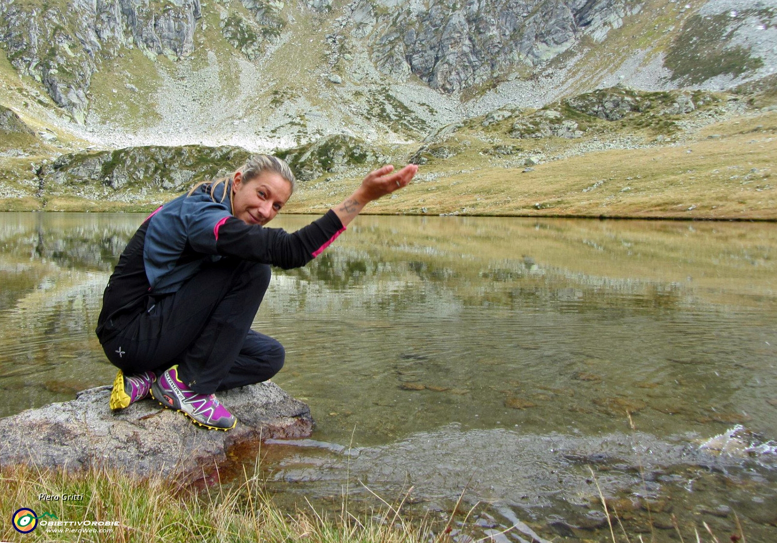
[[[774,0],[688,1],[0,0],[0,102],[24,117],[40,89],[57,127],[106,146],[258,149],[408,141],[507,103],[775,70]]]

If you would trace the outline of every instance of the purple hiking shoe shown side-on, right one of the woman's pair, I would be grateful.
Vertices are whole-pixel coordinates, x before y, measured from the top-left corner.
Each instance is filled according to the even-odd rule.
[[[197,394],[179,381],[178,366],[165,371],[151,388],[154,398],[163,407],[176,409],[200,426],[211,430],[232,430],[238,422],[213,394]]]

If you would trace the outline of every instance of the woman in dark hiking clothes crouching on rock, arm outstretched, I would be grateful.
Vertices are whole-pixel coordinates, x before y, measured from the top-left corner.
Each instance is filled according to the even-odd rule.
[[[234,175],[159,207],[122,252],[96,329],[119,368],[110,407],[151,394],[211,429],[235,427],[214,392],[273,377],[284,347],[251,329],[270,265],[305,266],[365,204],[410,183],[416,165],[376,169],[334,209],[289,234],[264,228],[294,191],[288,165],[254,155]]]

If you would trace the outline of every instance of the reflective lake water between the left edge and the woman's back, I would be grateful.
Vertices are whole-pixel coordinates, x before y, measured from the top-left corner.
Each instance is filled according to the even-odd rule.
[[[94,328],[138,216],[4,214],[0,221],[0,415],[109,382]]]

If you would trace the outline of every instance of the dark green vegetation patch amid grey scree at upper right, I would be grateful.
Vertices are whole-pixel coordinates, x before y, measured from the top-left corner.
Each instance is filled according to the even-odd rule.
[[[752,10],[740,12],[742,20]],[[753,13],[754,15],[755,13]],[[751,50],[740,45],[729,47],[738,26],[732,26],[728,13],[716,16],[690,17],[664,58],[664,66],[672,71],[672,79],[683,85],[698,85],[716,75],[739,77],[764,65]]]

